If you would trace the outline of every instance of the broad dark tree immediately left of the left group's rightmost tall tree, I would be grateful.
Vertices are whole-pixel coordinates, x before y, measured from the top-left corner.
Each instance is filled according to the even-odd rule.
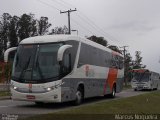
[[[20,17],[18,24],[18,36],[20,38],[20,41],[25,38],[37,35],[37,22],[34,19],[34,14],[23,14]]]

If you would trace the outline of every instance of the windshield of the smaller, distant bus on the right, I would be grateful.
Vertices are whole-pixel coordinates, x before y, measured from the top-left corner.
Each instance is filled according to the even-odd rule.
[[[134,79],[139,81],[139,82],[149,81],[149,76],[150,76],[150,74],[146,73],[146,72],[144,72],[144,73],[138,73],[138,72],[134,73]]]

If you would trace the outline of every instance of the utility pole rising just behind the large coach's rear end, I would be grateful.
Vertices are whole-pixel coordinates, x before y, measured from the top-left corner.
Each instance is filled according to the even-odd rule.
[[[123,55],[124,55],[124,82],[125,82],[125,85],[127,85],[127,80],[126,80],[126,73],[127,73],[127,69],[126,69],[126,52],[127,52],[127,50],[126,50],[126,47],[128,47],[128,46],[122,46],[122,47],[120,47],[120,48],[123,48]]]

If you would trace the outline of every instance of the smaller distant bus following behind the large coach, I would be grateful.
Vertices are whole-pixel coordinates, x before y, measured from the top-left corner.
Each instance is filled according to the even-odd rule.
[[[158,89],[160,82],[159,73],[150,71],[148,69],[134,69],[132,72],[133,79],[131,80],[131,86],[135,91],[142,89]]]

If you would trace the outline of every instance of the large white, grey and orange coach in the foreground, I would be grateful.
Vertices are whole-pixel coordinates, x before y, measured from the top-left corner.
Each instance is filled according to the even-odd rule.
[[[35,103],[115,97],[123,87],[123,55],[88,39],[72,35],[46,35],[22,40],[11,75],[13,100]]]

